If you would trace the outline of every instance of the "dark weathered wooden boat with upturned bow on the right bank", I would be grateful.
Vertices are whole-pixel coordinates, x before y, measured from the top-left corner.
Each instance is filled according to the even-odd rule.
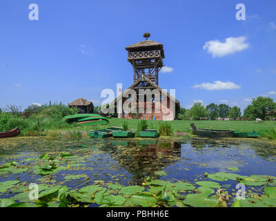
[[[193,129],[193,134],[199,135],[200,137],[212,137],[212,138],[223,138],[223,137],[233,137],[234,131],[232,130],[210,130],[197,128],[195,124],[190,124]]]

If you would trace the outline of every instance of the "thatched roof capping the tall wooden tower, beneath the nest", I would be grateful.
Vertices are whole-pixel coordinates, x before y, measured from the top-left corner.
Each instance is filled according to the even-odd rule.
[[[128,52],[139,52],[139,51],[147,51],[147,50],[161,50],[161,55],[164,58],[164,48],[163,44],[152,41],[152,40],[146,40],[146,41],[139,41],[136,44],[132,44],[130,46],[126,47],[126,50]]]

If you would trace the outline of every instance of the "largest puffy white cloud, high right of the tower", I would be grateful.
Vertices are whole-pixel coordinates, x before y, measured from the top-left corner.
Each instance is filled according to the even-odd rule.
[[[246,37],[244,36],[228,37],[224,43],[219,40],[207,41],[203,49],[207,49],[213,57],[224,57],[248,48],[249,44],[245,41]]]

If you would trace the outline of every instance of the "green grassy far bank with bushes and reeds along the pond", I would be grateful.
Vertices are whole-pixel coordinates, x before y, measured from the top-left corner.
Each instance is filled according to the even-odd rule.
[[[190,133],[190,124],[194,123],[198,128],[233,130],[233,131],[257,131],[261,137],[271,140],[276,139],[276,122],[274,121],[216,121],[216,120],[175,120],[171,122],[161,122],[143,119],[118,119],[110,118],[110,124],[106,126],[79,126],[61,122],[62,117],[75,115],[76,108],[68,108],[62,104],[51,106],[41,106],[28,118],[22,117],[18,113],[0,113],[0,131],[8,131],[12,128],[21,129],[20,136],[47,136],[53,138],[72,137],[81,138],[88,136],[88,131],[107,128],[110,126],[121,126],[126,129],[142,131],[146,128],[157,129],[161,136],[172,136],[174,133]],[[138,134],[138,133],[137,133]]]

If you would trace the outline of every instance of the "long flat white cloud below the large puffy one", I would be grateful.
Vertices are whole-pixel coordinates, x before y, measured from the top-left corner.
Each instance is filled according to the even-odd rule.
[[[214,83],[202,83],[202,84],[197,84],[195,86],[193,86],[192,88],[202,88],[204,90],[231,90],[231,89],[239,89],[241,88],[241,86],[227,81],[214,81]]]

